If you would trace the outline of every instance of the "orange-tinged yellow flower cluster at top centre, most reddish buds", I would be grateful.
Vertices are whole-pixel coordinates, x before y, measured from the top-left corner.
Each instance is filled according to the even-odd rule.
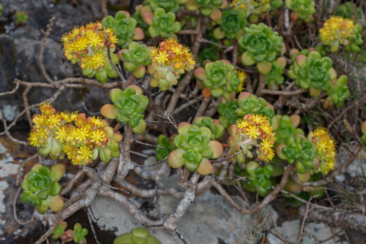
[[[165,38],[160,42],[158,48],[153,48],[149,52],[152,58],[152,63],[165,67],[172,66],[173,74],[183,74],[185,71],[190,71],[194,68],[196,62],[190,52],[190,49],[178,43],[175,38]]]

